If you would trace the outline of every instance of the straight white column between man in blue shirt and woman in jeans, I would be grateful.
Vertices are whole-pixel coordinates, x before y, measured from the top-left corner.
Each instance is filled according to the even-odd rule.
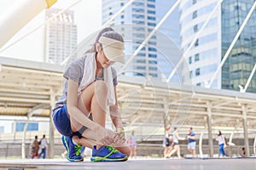
[[[208,145],[209,156],[213,157],[213,143],[212,143],[212,104],[207,104],[207,127],[208,127]]]

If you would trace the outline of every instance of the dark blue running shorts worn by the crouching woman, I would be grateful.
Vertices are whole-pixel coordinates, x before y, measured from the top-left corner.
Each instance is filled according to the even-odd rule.
[[[89,116],[90,120],[92,120],[92,116]],[[87,129],[87,127],[81,127],[78,132],[73,133],[71,126],[70,126],[70,117],[67,113],[67,105],[64,105],[56,111],[55,115],[53,116],[53,122],[55,123],[56,129],[61,133],[63,136],[79,136],[82,138],[82,133]]]

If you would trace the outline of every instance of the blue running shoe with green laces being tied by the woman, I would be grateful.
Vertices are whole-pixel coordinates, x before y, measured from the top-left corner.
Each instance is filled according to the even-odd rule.
[[[128,156],[114,149],[112,146],[102,146],[96,150],[96,146],[92,149],[90,161],[127,161]]]

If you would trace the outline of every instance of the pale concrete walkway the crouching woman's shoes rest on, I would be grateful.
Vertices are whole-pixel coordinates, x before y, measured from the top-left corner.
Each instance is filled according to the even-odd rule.
[[[256,158],[236,159],[137,159],[124,162],[69,162],[54,160],[0,160],[1,170],[91,169],[91,170],[253,170]]]

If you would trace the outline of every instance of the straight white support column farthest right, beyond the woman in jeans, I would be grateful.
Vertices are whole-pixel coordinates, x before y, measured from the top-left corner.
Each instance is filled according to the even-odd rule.
[[[246,151],[246,156],[250,155],[249,150],[249,139],[248,139],[248,133],[247,133],[247,105],[242,105],[242,122],[243,122],[243,134],[244,134],[244,145]]]

